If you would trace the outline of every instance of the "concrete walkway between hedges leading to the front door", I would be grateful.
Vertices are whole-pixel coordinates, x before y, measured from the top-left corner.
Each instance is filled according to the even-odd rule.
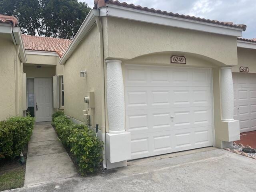
[[[28,143],[24,186],[77,176],[75,167],[51,122],[36,123]]]

